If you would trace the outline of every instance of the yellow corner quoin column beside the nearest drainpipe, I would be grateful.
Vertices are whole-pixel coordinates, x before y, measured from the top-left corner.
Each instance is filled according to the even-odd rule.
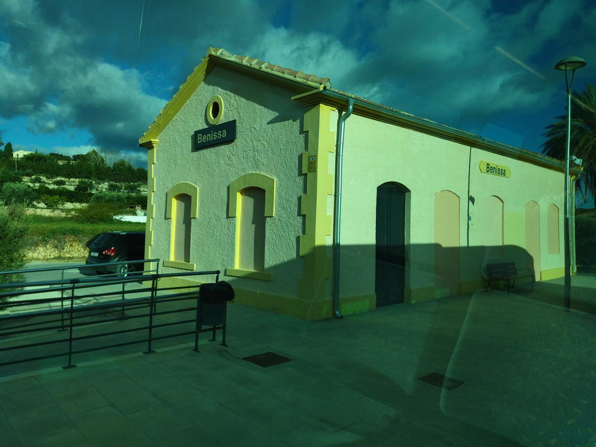
[[[328,153],[335,151],[335,132],[330,131],[333,110],[328,105],[315,105],[305,113],[303,124],[303,132],[308,132],[308,151],[302,154],[301,160],[306,194],[300,197],[300,213],[306,216],[306,228],[305,234],[299,237],[299,254],[305,258],[305,276],[299,280],[298,294],[300,299],[311,302],[325,299],[325,280],[331,277],[327,235],[332,232],[332,219],[327,214],[327,200],[334,190],[334,176],[328,173]],[[327,318],[332,313],[328,306],[317,309],[328,315],[311,315],[310,318]]]

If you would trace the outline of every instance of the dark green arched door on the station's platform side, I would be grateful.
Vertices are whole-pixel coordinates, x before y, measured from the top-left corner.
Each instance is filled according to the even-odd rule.
[[[405,190],[385,183],[377,188],[377,307],[403,303],[404,278]]]

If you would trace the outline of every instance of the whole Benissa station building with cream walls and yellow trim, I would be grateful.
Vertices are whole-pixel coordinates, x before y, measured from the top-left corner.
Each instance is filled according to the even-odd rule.
[[[145,259],[240,303],[316,320],[472,293],[490,262],[563,276],[560,160],[328,78],[210,48],[139,144]]]

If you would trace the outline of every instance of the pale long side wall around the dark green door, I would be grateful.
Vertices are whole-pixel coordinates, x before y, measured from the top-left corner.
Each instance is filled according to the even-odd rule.
[[[510,178],[480,172],[481,160],[510,167]],[[469,194],[474,197],[474,205],[470,204],[470,248],[468,163]],[[483,279],[482,266],[488,260],[483,206],[491,195],[504,202],[504,258],[526,266],[525,206],[527,201],[535,200],[541,212],[541,269],[563,267],[563,250],[548,254],[546,226],[548,204],[563,209],[563,173],[353,115],[346,122],[343,159],[342,296],[374,293],[376,194],[378,185],[384,182],[398,182],[411,191],[406,230],[406,301],[435,296],[434,195],[443,190],[460,197],[463,293],[469,290],[465,283],[479,285]]]

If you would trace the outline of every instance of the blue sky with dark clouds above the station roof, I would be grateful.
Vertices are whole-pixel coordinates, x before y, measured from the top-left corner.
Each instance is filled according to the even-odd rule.
[[[0,135],[144,165],[139,136],[213,46],[540,152],[565,113],[553,66],[583,57],[574,88],[595,83],[594,36],[587,0],[0,0]]]

